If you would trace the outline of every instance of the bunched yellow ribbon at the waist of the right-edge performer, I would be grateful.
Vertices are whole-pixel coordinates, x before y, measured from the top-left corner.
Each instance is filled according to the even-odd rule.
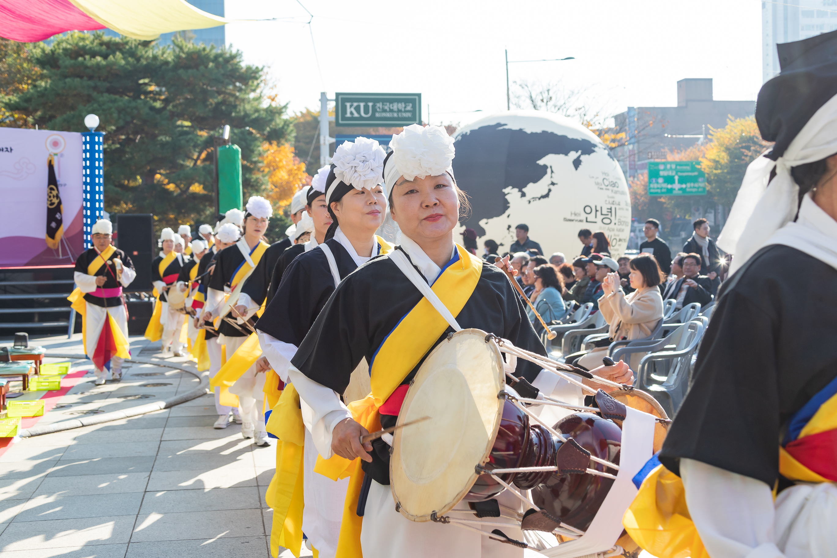
[[[680,477],[658,465],[622,518],[628,535],[657,558],[709,558],[686,507]]]

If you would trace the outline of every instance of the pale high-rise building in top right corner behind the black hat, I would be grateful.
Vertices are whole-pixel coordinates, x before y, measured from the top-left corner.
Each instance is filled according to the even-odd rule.
[[[779,73],[776,45],[837,29],[837,0],[762,3],[762,80]]]

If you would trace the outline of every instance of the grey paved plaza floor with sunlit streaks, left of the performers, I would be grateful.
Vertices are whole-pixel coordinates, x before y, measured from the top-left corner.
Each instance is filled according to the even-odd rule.
[[[30,345],[83,353],[80,337],[33,338]],[[159,343],[131,338],[132,355],[158,350]],[[74,361],[74,371],[91,368]],[[41,420],[114,411],[198,385],[186,372],[126,363],[119,383],[95,387],[92,371],[80,377]],[[213,396],[204,395],[9,445],[0,455],[0,558],[267,558],[264,492],[275,446],[257,448],[237,424],[215,430],[216,418]],[[303,547],[303,554],[311,553]]]

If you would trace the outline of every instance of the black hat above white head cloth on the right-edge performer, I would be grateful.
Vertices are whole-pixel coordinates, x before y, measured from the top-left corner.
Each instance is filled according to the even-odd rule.
[[[765,141],[775,141],[766,156],[776,161],[804,125],[837,95],[837,31],[793,43],[777,44],[781,73],[758,92],[756,123]]]

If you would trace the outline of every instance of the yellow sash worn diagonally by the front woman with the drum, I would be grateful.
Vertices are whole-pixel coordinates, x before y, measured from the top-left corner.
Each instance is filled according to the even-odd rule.
[[[459,315],[471,294],[474,293],[482,272],[481,259],[459,244],[456,245],[456,249],[460,254],[460,261],[444,269],[432,287],[434,293],[454,316]],[[419,364],[447,327],[448,322],[428,299],[423,297],[419,300],[419,304],[404,316],[378,349],[370,371],[372,393],[365,399],[349,405],[352,417],[369,432],[380,429],[378,408]],[[362,558],[360,536],[363,518],[357,515],[357,499],[363,483],[361,460],[357,458],[350,461],[339,455],[334,455],[330,459],[318,457],[314,471],[334,480],[351,477],[346,502],[343,505],[343,521],[337,555],[341,558]]]

